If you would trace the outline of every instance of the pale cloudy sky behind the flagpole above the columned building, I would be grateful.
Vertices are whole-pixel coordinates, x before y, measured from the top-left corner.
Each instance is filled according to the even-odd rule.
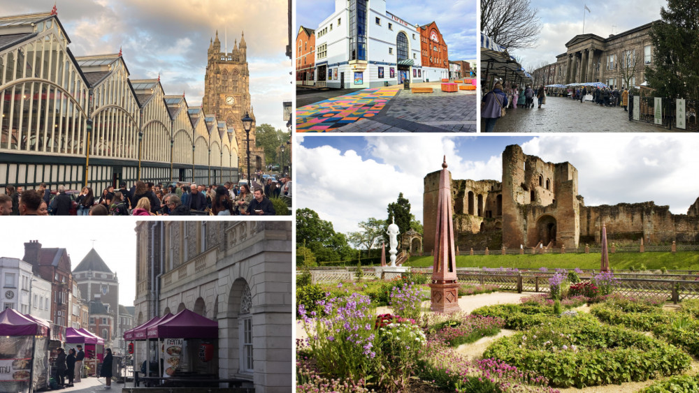
[[[528,50],[515,50],[512,55],[521,59],[527,68],[538,66],[541,61],[556,62],[556,55],[565,52],[565,43],[582,34],[584,6],[585,33],[607,38],[610,34],[642,26],[660,19],[660,8],[666,0],[638,0],[633,3],[621,0],[540,0],[533,1],[538,9],[542,29],[538,46]]]

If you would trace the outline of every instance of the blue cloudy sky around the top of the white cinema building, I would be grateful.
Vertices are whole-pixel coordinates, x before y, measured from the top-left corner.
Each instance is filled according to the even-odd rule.
[[[386,10],[411,24],[437,22],[449,50],[449,60],[476,58],[475,0],[387,0]],[[296,0],[296,37],[299,26],[317,29],[320,22],[335,12],[333,0]]]

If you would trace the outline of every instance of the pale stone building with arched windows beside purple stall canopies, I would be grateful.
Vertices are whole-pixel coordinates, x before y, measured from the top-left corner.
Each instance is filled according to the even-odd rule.
[[[217,320],[219,376],[288,392],[291,222],[141,221],[136,239],[135,325],[185,308]]]

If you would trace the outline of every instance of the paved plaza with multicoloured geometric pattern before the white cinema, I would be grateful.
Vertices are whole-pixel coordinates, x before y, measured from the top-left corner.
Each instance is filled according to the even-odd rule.
[[[299,107],[296,114],[297,130],[440,133],[476,131],[476,96],[473,91],[445,93],[441,91],[439,82],[413,85],[417,86],[432,87],[433,93],[412,94],[403,90],[401,85],[377,91],[365,89],[361,98],[353,98],[359,95],[354,93],[335,98],[331,102]],[[357,110],[359,104],[364,106]],[[340,114],[347,114],[345,111],[349,111],[348,117],[339,119]],[[331,122],[336,119],[335,124],[326,126],[328,121],[322,121],[322,117],[328,116]]]

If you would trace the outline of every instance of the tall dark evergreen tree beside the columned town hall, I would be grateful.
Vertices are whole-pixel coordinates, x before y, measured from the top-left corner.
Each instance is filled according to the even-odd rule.
[[[662,22],[650,36],[654,48],[645,79],[656,97],[699,99],[699,7],[693,0],[668,0]]]

